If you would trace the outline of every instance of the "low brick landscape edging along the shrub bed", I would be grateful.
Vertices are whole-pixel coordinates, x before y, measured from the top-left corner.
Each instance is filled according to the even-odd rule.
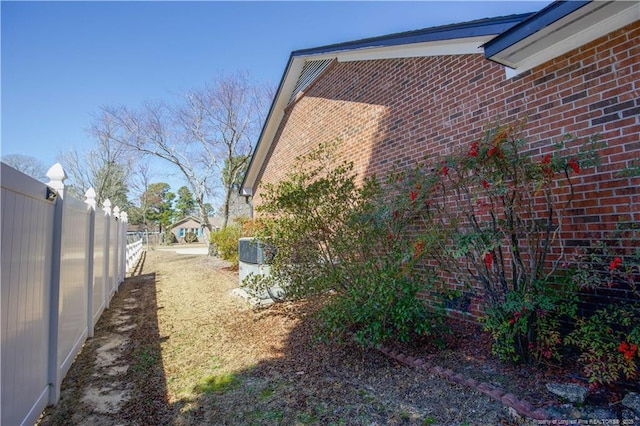
[[[506,393],[504,390],[492,386],[489,383],[479,383],[477,380],[466,378],[460,373],[455,374],[452,370],[446,370],[438,365],[432,365],[430,362],[425,361],[422,358],[407,356],[402,352],[399,352],[395,349],[390,349],[386,346],[380,345],[377,346],[376,349],[384,355],[393,358],[402,364],[417,368],[418,370],[423,370],[427,373],[435,374],[449,380],[450,382],[457,383],[461,386],[466,386],[468,388],[482,392],[485,395],[488,395],[489,397],[495,399],[496,401],[501,402],[507,407],[512,408],[521,416],[528,417],[533,420],[551,419],[549,413],[547,413],[544,409],[536,409],[529,401],[520,399],[511,393]]]

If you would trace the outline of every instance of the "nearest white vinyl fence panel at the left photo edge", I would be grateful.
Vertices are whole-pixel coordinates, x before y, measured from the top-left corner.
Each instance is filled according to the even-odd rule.
[[[1,168],[3,425],[33,424],[49,397],[49,297],[54,204],[47,187]]]

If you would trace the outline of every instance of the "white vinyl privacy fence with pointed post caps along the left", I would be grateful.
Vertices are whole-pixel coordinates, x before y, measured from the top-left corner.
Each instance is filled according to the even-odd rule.
[[[0,424],[34,424],[60,399],[62,379],[142,251],[127,244],[127,214],[90,189],[64,195],[59,164],[48,185],[0,164]]]

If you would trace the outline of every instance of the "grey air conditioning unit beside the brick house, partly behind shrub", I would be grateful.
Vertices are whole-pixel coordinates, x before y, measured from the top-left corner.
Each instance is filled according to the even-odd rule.
[[[250,291],[244,286],[245,279],[250,275],[270,275],[271,259],[275,252],[269,244],[254,237],[243,237],[238,240],[238,266],[240,275],[240,287]],[[270,287],[260,292],[250,292],[250,297],[259,301],[270,301],[282,296],[282,288]]]

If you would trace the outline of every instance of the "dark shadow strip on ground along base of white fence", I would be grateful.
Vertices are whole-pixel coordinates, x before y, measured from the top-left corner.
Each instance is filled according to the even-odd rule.
[[[39,425],[163,425],[172,421],[162,368],[156,274],[146,253],[111,299]]]

